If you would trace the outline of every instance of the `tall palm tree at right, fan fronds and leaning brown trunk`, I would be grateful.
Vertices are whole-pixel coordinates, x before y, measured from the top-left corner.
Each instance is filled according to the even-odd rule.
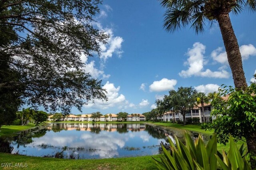
[[[164,27],[175,31],[191,25],[196,33],[203,32],[209,21],[217,21],[228,56],[235,87],[247,87],[238,41],[230,21],[229,13],[240,13],[244,8],[256,12],[256,0],[161,0],[167,10]]]

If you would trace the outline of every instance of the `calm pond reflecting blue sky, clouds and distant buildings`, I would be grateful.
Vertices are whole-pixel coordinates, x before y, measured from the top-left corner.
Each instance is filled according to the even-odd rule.
[[[154,155],[172,132],[144,123],[51,123],[0,138],[0,152],[88,159]]]

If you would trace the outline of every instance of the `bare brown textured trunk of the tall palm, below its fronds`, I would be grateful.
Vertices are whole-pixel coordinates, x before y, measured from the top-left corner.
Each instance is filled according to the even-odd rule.
[[[220,26],[235,87],[238,89],[247,87],[239,45],[228,12],[219,14],[217,20]]]

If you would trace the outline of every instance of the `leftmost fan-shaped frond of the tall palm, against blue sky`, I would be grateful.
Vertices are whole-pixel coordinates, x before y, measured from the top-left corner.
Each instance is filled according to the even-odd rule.
[[[189,13],[178,8],[169,8],[164,14],[164,27],[167,31],[174,32],[181,27],[188,25]]]

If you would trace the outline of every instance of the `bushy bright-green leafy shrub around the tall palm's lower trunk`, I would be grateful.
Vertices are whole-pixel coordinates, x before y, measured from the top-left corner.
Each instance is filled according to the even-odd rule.
[[[253,95],[252,95],[253,94]],[[211,114],[216,116],[212,128],[221,143],[228,142],[229,133],[236,139],[251,138],[256,133],[256,84],[245,90],[235,90],[232,86],[222,86],[215,98]]]

